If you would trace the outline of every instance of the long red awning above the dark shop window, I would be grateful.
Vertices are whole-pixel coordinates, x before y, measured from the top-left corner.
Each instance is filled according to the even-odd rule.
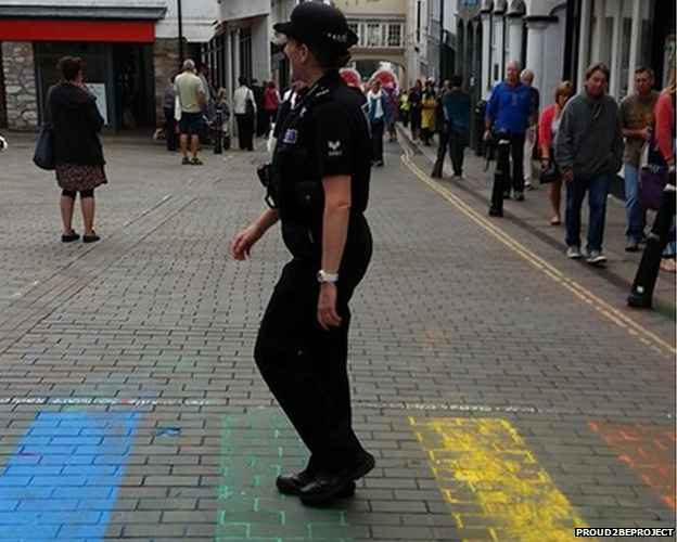
[[[0,21],[0,41],[98,41],[152,43],[155,23],[149,21]]]

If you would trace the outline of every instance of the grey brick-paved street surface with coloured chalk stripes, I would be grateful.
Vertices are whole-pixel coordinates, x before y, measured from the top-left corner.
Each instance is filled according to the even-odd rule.
[[[489,222],[483,202],[421,173],[425,156],[386,144],[368,211],[375,255],[354,301],[355,425],[378,465],[354,499],[314,509],[274,490],[305,451],[252,360],[288,255],[270,232],[247,262],[227,257],[263,208],[263,153],[197,168],[107,144],[103,241],[62,245],[54,181],[29,165],[28,141],[11,144],[0,541],[674,528],[674,318],[627,311],[613,282],[514,221]]]

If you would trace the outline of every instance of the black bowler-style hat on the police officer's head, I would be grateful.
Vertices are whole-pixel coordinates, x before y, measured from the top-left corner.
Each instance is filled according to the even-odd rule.
[[[278,23],[273,28],[302,43],[337,51],[345,51],[359,40],[338,9],[319,2],[298,4],[292,11],[291,21]]]

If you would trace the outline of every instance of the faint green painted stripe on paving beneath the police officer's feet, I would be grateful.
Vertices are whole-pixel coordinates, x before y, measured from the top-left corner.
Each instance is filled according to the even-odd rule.
[[[309,508],[274,486],[279,474],[303,468],[307,454],[278,410],[223,415],[214,541],[349,542],[345,501]]]

